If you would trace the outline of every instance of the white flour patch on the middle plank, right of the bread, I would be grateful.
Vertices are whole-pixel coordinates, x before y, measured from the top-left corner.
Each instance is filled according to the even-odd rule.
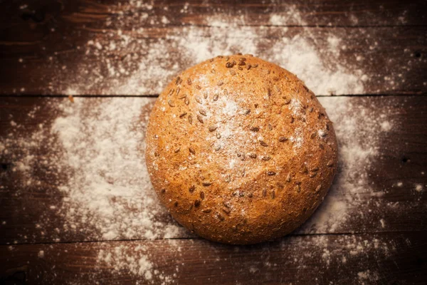
[[[398,124],[389,118],[393,102],[384,104],[381,109],[377,108],[375,113],[368,113],[372,107],[364,105],[369,102],[371,99],[320,98],[320,103],[334,122],[340,171],[324,202],[300,232],[351,231],[347,228],[348,224],[352,224],[349,220],[354,222],[367,215],[365,209],[369,207],[370,201],[362,199],[361,195],[384,195],[384,192],[374,191],[369,175],[374,170],[376,160],[381,159],[380,134],[385,132],[381,125],[387,122],[396,128]],[[381,207],[386,210],[391,205],[384,204]]]

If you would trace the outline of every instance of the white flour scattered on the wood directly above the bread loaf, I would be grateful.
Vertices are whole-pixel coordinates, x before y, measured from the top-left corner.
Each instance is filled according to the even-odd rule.
[[[135,3],[110,6],[114,16],[106,22],[107,26],[114,23],[115,28],[88,38],[80,46],[85,55],[77,70],[58,71],[52,90],[68,95],[71,86],[80,94],[158,94],[179,71],[214,56],[241,52],[287,68],[317,95],[364,93],[369,78],[361,69],[364,65],[355,67],[342,59],[344,41],[349,41],[347,32],[305,26],[296,6],[289,6],[285,14],[271,14],[269,26],[246,26],[250,20],[245,14],[218,12],[206,17],[206,26],[160,29],[147,26],[144,15],[151,13],[151,7],[141,9]],[[187,10],[183,8],[182,13]],[[150,24],[157,26],[170,21],[166,16],[151,19]],[[302,27],[288,29],[288,23]]]

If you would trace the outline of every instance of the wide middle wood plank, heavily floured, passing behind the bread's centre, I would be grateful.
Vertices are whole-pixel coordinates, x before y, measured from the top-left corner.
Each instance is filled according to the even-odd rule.
[[[144,165],[155,98],[1,98],[0,242],[189,237]],[[294,234],[425,231],[427,97],[320,98],[339,170]]]

